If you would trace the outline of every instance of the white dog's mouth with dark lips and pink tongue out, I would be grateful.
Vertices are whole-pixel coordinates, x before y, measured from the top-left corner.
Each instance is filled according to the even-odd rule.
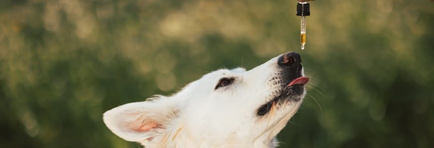
[[[304,93],[304,85],[306,85],[308,81],[309,78],[306,76],[297,77],[291,80],[289,84],[280,91],[280,95],[277,95],[277,97],[263,104],[258,109],[257,115],[265,115],[273,108],[273,106],[280,105],[288,101],[300,101],[301,95]]]

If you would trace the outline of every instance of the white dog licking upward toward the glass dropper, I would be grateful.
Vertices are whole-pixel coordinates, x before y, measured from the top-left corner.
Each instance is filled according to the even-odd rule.
[[[172,96],[104,113],[107,127],[146,148],[274,148],[309,80],[289,52],[246,71],[218,70]]]

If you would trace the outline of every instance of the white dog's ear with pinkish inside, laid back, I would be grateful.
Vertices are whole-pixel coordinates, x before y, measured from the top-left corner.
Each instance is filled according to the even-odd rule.
[[[129,103],[104,113],[104,123],[122,139],[132,142],[151,140],[177,117],[169,98]]]

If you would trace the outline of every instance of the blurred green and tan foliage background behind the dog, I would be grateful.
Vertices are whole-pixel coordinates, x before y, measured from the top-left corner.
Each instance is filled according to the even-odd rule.
[[[102,114],[286,51],[311,77],[281,148],[434,148],[434,2],[0,0],[0,148],[138,148]]]

